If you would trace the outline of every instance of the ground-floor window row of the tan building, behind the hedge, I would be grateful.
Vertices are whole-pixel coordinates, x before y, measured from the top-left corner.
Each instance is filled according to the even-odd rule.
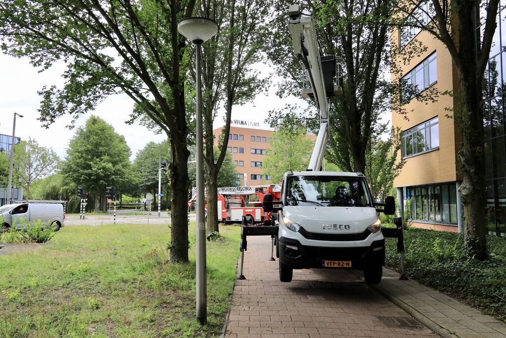
[[[455,183],[407,187],[411,199],[412,221],[457,224],[457,191]]]

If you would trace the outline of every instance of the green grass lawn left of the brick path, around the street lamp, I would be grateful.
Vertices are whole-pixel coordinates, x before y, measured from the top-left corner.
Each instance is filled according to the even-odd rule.
[[[240,227],[207,242],[208,324],[195,319],[190,264],[167,262],[165,225],[72,226],[0,255],[0,336],[215,336],[230,306]]]

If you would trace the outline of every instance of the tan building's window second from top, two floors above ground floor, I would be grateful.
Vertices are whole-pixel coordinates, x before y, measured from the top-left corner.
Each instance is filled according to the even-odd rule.
[[[431,87],[437,81],[436,53],[431,54],[401,79],[401,100],[407,103],[416,94]]]

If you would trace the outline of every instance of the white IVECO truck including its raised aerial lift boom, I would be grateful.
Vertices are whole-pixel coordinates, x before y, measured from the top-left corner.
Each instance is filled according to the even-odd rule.
[[[393,215],[394,198],[375,203],[362,173],[320,171],[329,132],[327,98],[341,94],[339,83],[334,86],[335,59],[320,55],[312,16],[298,5],[289,8],[288,28],[311,85],[302,94],[314,98],[320,130],[307,171],[284,175],[279,201],[264,196],[265,211],[277,212],[279,279],[290,282],[293,269],[357,269],[366,282],[379,283],[385,238],[378,213]]]

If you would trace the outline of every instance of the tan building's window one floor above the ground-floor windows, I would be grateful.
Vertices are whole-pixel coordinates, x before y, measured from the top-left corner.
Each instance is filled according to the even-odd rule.
[[[402,133],[402,157],[410,157],[439,148],[439,117]]]

